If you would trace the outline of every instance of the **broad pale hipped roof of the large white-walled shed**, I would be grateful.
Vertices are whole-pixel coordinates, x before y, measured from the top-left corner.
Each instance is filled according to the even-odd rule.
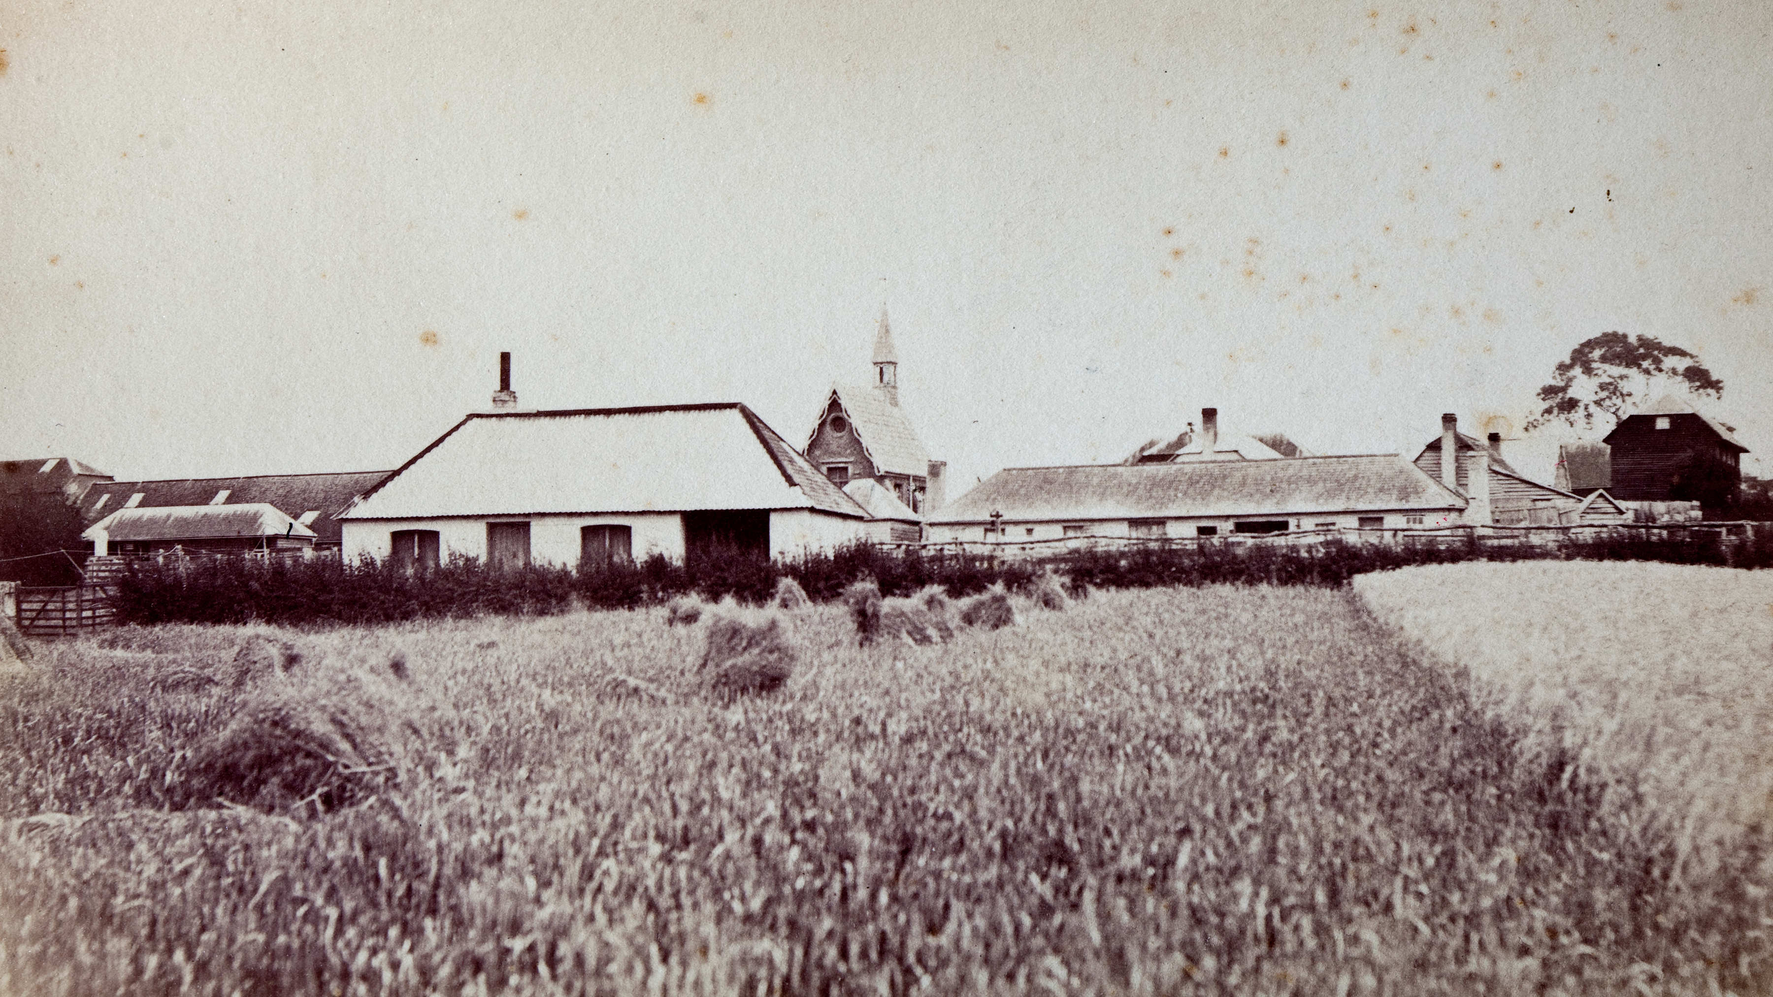
[[[821,509],[855,500],[738,403],[468,415],[346,520]]]

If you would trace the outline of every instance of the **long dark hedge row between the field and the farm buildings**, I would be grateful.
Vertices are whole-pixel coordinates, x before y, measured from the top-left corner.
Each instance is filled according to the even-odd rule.
[[[794,578],[817,601],[837,596],[858,578],[874,578],[885,594],[910,594],[941,585],[950,596],[993,584],[1018,591],[1039,571],[1057,571],[1073,593],[1087,587],[1142,589],[1158,585],[1268,584],[1340,585],[1365,571],[1454,561],[1667,561],[1773,568],[1773,525],[1752,543],[1722,543],[1714,532],[1684,538],[1566,539],[1557,545],[1344,543],[1264,545],[1188,543],[1138,550],[1058,552],[1039,561],[982,553],[890,552],[871,545],[766,561],[738,552],[691,557],[688,562],[651,557],[635,564],[571,571],[528,568],[491,571],[461,559],[424,575],[362,561],[259,562],[250,559],[186,564],[137,562],[119,578],[117,612],[131,623],[285,623],[363,624],[480,614],[539,616],[589,605],[635,608],[697,593],[762,603],[778,578]]]

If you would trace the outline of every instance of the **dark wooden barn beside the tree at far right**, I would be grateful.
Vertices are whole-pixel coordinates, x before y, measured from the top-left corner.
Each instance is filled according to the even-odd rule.
[[[1683,397],[1665,396],[1644,412],[1628,415],[1606,435],[1612,454],[1613,498],[1624,502],[1706,502],[1707,514],[1718,479],[1734,493],[1741,484],[1741,456],[1748,447],[1734,428],[1702,415]]]

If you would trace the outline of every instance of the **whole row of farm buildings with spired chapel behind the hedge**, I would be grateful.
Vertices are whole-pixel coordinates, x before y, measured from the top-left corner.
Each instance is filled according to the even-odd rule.
[[[582,564],[741,548],[773,557],[878,543],[1023,545],[1454,525],[1589,525],[1691,516],[1670,502],[1695,454],[1738,468],[1732,428],[1681,397],[1605,440],[1564,444],[1551,481],[1454,415],[1411,458],[1308,454],[1230,431],[1215,408],[1113,465],[1005,468],[945,495],[899,406],[885,312],[872,378],[837,385],[801,445],[738,403],[535,412],[502,355],[491,406],[394,470],[113,481],[71,458],[0,461],[5,486],[78,504],[96,553],[337,550],[434,564]]]

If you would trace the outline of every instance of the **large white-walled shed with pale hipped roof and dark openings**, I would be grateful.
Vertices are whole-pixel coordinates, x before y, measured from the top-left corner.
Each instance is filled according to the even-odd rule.
[[[339,518],[346,557],[500,568],[867,538],[867,513],[736,403],[475,413]]]

